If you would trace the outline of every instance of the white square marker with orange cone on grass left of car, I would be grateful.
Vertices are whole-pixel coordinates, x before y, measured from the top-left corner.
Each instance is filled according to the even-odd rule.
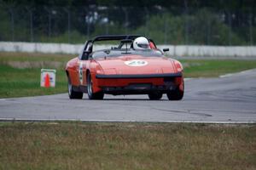
[[[55,88],[55,74],[56,70],[41,69],[41,87]]]

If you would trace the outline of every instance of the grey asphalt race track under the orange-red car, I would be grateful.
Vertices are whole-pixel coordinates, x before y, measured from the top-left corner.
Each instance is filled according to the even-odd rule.
[[[256,69],[219,78],[185,81],[181,101],[147,95],[104,100],[68,99],[67,94],[0,99],[0,120],[85,122],[256,122]]]

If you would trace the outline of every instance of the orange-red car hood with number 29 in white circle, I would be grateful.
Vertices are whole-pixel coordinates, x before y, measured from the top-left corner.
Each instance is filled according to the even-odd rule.
[[[177,72],[173,60],[165,57],[143,57],[140,55],[97,59],[103,74],[160,74]]]

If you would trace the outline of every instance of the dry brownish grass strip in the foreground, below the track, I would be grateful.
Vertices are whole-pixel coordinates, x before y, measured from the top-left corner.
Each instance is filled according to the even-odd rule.
[[[0,169],[255,169],[255,125],[0,123]]]

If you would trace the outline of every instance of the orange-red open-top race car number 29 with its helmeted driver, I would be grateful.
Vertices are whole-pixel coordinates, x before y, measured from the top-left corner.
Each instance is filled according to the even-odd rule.
[[[103,41],[117,44],[98,49]],[[78,57],[67,62],[69,98],[82,99],[87,93],[89,99],[103,99],[104,94],[148,94],[149,99],[166,94],[170,100],[183,99],[183,66],[164,52],[147,37],[95,37],[85,42]]]

